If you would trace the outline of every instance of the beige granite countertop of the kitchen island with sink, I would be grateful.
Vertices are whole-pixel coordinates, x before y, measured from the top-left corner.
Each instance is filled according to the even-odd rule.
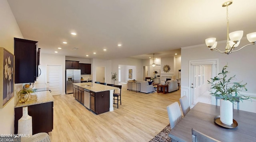
[[[93,84],[93,86],[92,86]],[[102,91],[109,91],[109,90],[114,90],[114,89],[119,89],[116,87],[112,87],[112,86],[106,86],[106,85],[102,85],[102,84],[96,84],[96,83],[91,83],[91,82],[87,82],[87,83],[74,83],[73,85],[93,91],[93,92],[102,92]],[[86,86],[88,85],[88,86]]]

